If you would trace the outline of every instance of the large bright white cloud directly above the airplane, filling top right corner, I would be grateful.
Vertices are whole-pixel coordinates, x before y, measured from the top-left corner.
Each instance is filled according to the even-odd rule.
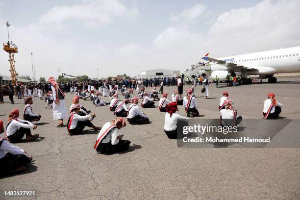
[[[210,27],[207,46],[218,55],[299,46],[299,9],[299,0],[264,0],[232,9]]]

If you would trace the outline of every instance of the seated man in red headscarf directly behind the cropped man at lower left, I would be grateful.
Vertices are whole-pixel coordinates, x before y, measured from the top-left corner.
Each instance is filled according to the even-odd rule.
[[[8,116],[8,123],[6,126],[5,139],[11,143],[21,142],[24,135],[26,135],[25,141],[36,140],[39,134],[32,135],[30,128],[36,129],[37,125],[32,124],[29,121],[20,120],[18,108],[14,108],[10,111]]]

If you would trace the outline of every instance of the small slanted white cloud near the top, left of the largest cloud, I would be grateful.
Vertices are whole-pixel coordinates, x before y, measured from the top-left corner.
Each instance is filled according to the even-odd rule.
[[[193,20],[199,17],[206,10],[206,6],[202,3],[197,3],[194,6],[184,9],[179,15],[171,16],[172,21],[176,21],[182,18]]]

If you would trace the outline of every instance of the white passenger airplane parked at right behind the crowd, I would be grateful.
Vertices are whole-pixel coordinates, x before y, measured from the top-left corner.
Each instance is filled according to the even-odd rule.
[[[206,53],[202,59],[211,64],[198,67],[198,74],[205,73],[213,80],[218,76],[220,81],[226,80],[227,75],[243,75],[243,83],[251,83],[249,77],[268,78],[268,82],[275,83],[277,78],[274,74],[300,72],[300,46],[222,58],[211,58]],[[192,72],[187,75],[194,75],[195,69]]]

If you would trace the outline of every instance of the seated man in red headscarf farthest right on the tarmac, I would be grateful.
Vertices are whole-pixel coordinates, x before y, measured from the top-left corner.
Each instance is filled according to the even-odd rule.
[[[276,101],[275,94],[269,93],[268,99],[265,100],[264,109],[263,109],[263,118],[264,119],[276,119],[281,113],[281,107],[283,105]]]

